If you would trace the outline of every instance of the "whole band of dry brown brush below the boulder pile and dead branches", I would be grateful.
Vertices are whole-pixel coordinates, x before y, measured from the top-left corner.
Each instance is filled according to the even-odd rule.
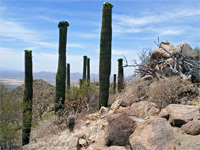
[[[111,96],[110,101],[122,99],[122,106],[130,106],[132,103],[147,100],[164,108],[168,104],[180,104],[183,101],[187,103],[198,95],[198,88],[192,82],[172,76],[159,81],[157,79],[135,80],[126,85],[122,93]]]

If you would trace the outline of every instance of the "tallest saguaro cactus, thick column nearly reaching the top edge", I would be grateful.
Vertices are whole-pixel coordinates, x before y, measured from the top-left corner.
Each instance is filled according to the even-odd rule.
[[[111,72],[111,41],[112,41],[112,8],[106,2],[102,9],[102,25],[99,62],[99,108],[107,107]]]

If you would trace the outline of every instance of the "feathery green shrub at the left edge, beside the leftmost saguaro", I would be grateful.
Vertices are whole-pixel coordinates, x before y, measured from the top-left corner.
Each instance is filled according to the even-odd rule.
[[[12,101],[6,86],[0,82],[0,146],[9,149],[16,146],[21,128],[19,117],[22,112],[20,102]]]

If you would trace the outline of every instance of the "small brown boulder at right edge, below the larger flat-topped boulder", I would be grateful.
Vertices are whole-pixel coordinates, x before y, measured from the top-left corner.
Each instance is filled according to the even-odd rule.
[[[181,130],[186,134],[198,135],[200,134],[200,120],[189,121],[181,127]]]

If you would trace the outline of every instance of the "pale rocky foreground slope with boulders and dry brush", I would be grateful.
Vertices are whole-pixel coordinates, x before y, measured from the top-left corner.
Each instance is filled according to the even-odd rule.
[[[169,82],[168,85],[161,85],[162,81],[148,81],[146,89],[141,87],[144,82],[147,81],[142,79],[127,86],[123,93],[116,95],[110,108],[102,107],[96,113],[76,118],[72,132],[67,122],[56,124],[55,116],[41,121],[32,131],[31,143],[21,149],[199,150],[200,88],[177,78],[163,81]],[[181,93],[176,89],[173,89],[176,93],[170,93],[172,82],[179,83]],[[167,87],[170,98],[176,98],[176,94],[180,96],[174,101],[179,104],[167,103],[169,97],[162,90],[158,92],[159,84]],[[160,105],[159,97],[165,105]]]

